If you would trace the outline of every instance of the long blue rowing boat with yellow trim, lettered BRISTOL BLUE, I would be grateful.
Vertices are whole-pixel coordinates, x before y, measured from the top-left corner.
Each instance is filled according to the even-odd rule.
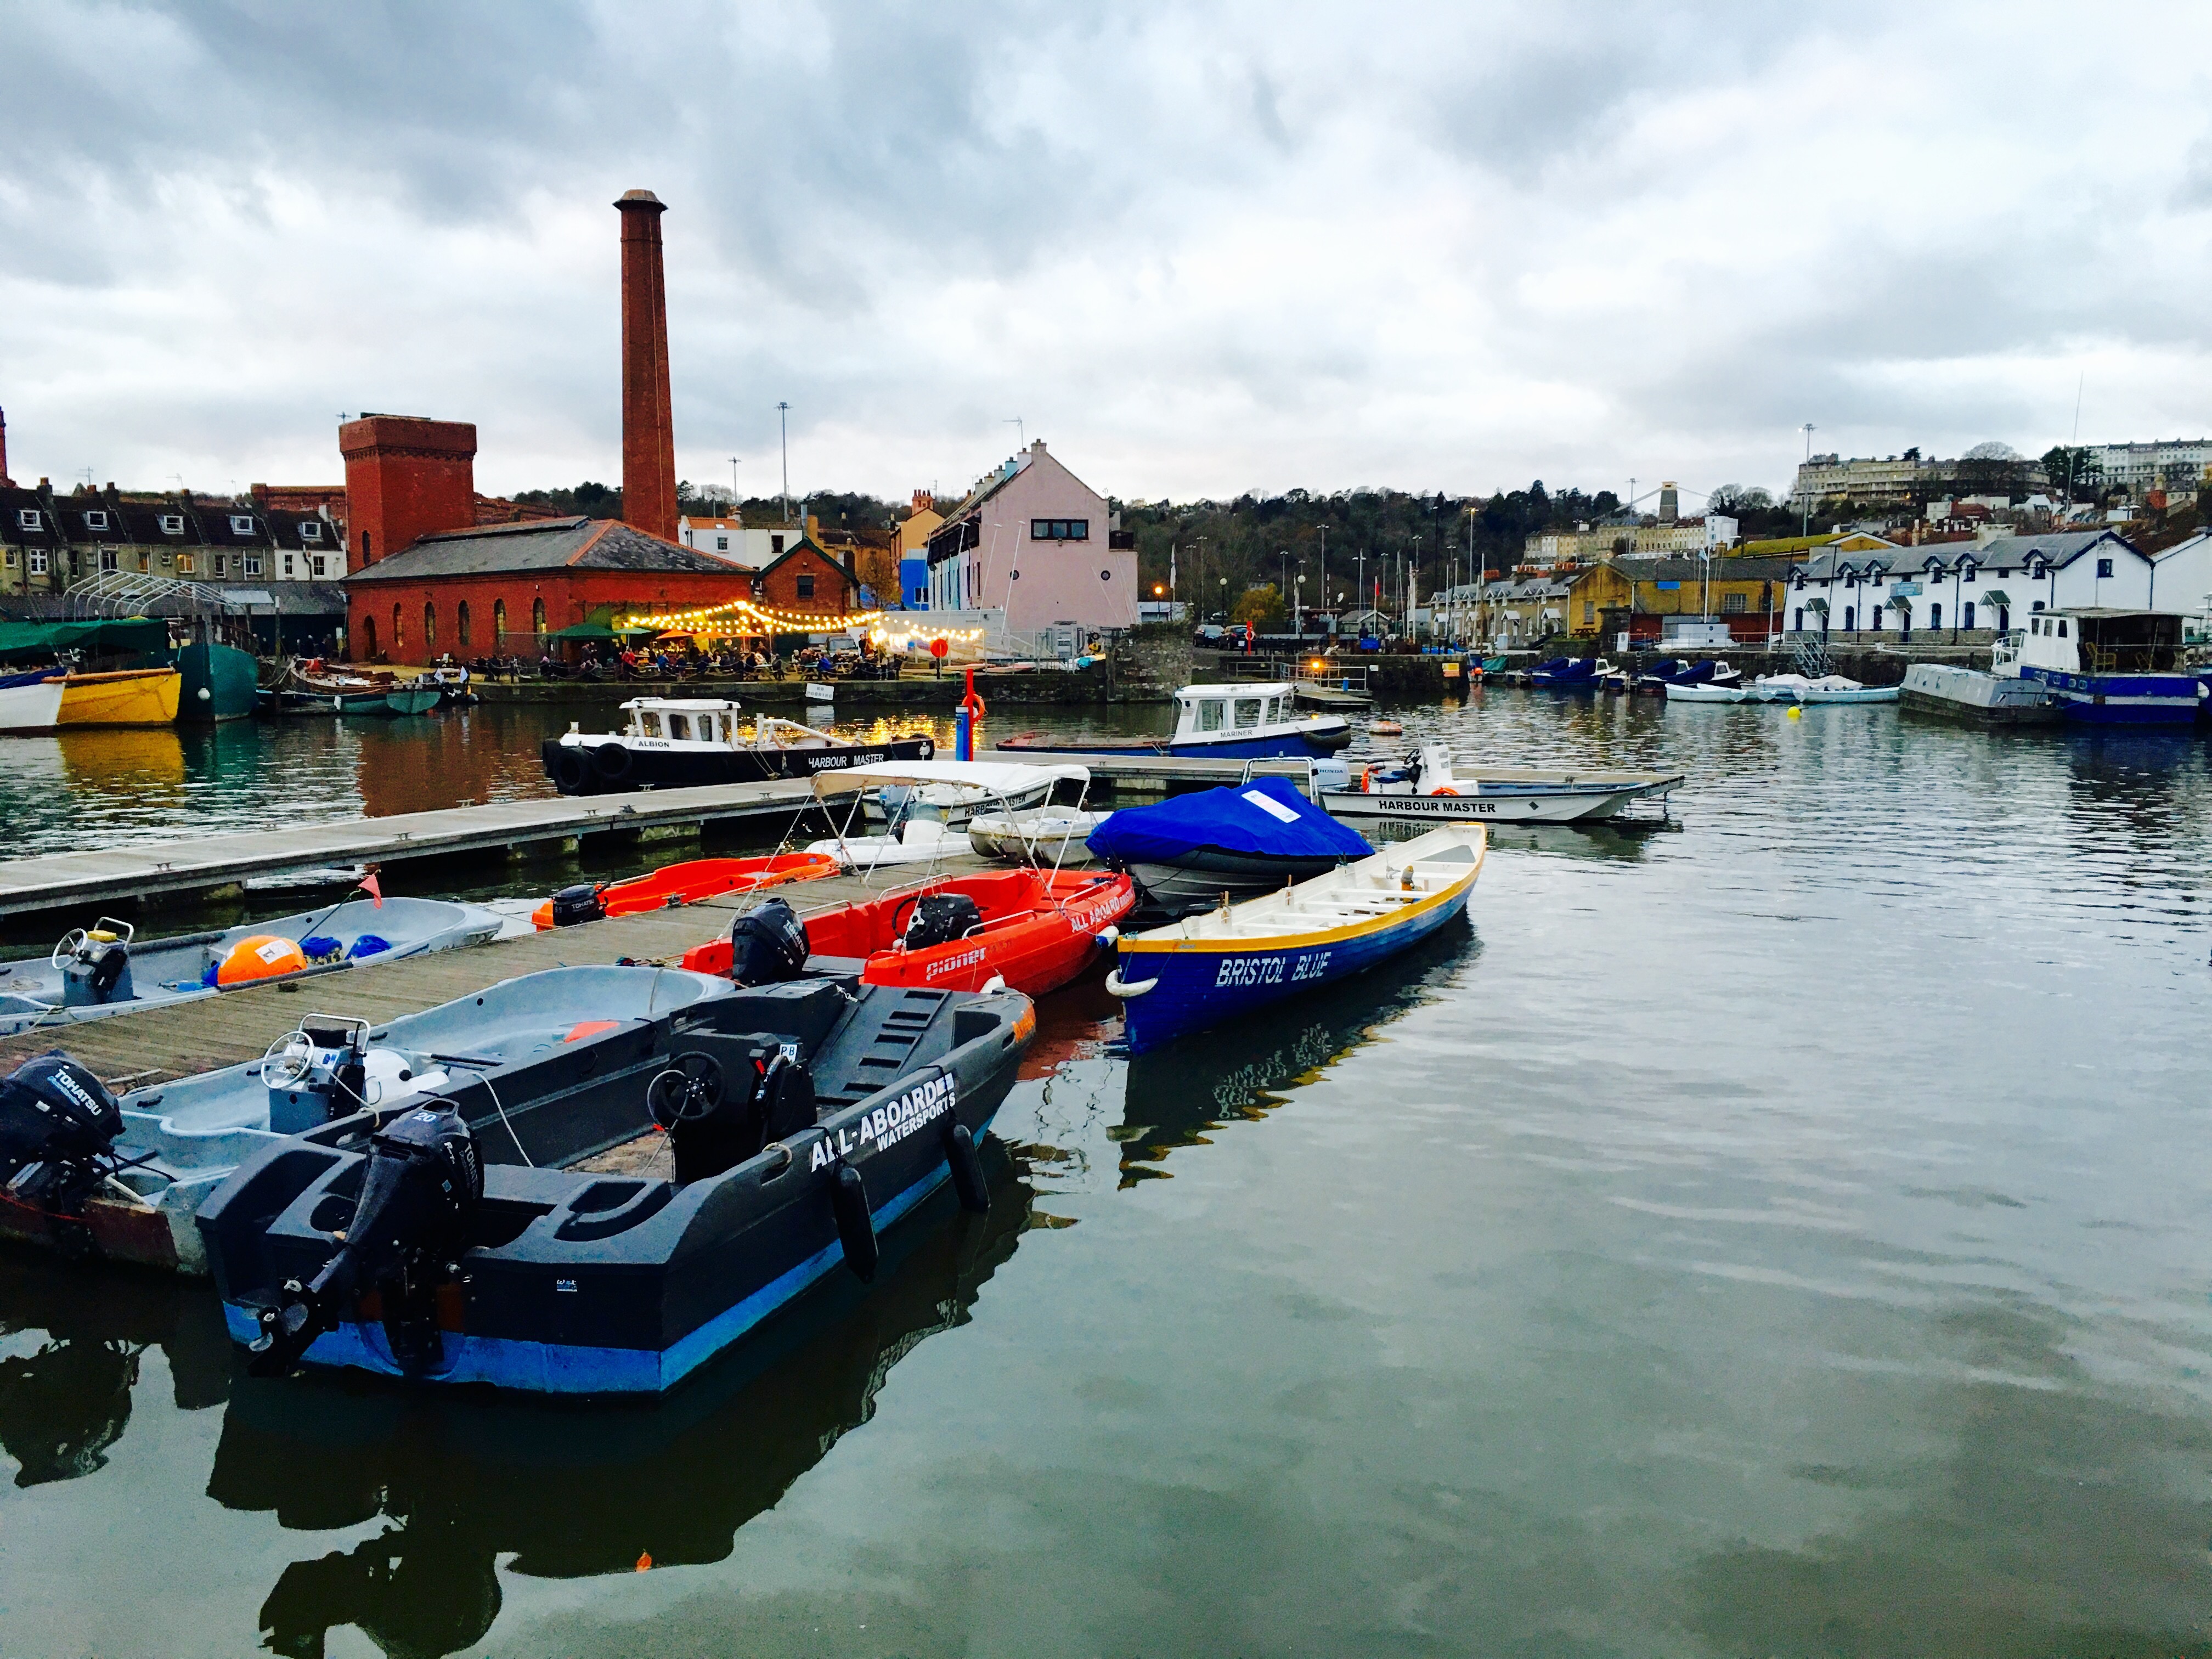
[[[1128,1051],[1387,962],[1464,914],[1486,845],[1475,825],[1429,830],[1281,891],[1124,933],[1106,989],[1121,998]]]

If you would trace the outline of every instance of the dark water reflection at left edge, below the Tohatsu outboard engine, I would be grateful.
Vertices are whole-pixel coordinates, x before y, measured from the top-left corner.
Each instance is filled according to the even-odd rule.
[[[230,1338],[210,1292],[0,1252],[0,1451],[18,1486],[106,1467],[148,1349],[166,1358],[179,1409],[228,1396]]]

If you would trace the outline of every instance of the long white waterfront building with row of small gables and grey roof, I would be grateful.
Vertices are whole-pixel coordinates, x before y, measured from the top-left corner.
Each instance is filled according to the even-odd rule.
[[[1787,633],[1909,637],[2006,633],[2037,611],[2179,611],[2163,595],[2152,604],[2152,568],[2150,557],[2112,531],[2002,535],[1989,546],[1820,551],[1792,573],[1783,626]],[[2201,580],[2212,580],[2212,555],[2190,553],[2168,586]]]

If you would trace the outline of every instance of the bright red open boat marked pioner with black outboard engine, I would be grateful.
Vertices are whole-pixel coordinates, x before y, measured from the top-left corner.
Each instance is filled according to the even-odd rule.
[[[980,991],[1004,980],[1033,998],[1099,958],[1097,936],[1137,907],[1128,876],[1099,869],[1006,869],[949,876],[863,905],[805,916],[810,956],[867,962],[867,984]],[[728,973],[730,940],[684,956],[695,973]]]

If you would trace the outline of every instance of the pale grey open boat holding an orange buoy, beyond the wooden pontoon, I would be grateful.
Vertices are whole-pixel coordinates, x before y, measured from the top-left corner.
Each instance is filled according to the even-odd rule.
[[[102,916],[46,956],[0,962],[0,1035],[42,1031],[246,984],[398,962],[498,938],[504,922],[440,898],[352,898],[299,916],[137,942],[131,922]]]

